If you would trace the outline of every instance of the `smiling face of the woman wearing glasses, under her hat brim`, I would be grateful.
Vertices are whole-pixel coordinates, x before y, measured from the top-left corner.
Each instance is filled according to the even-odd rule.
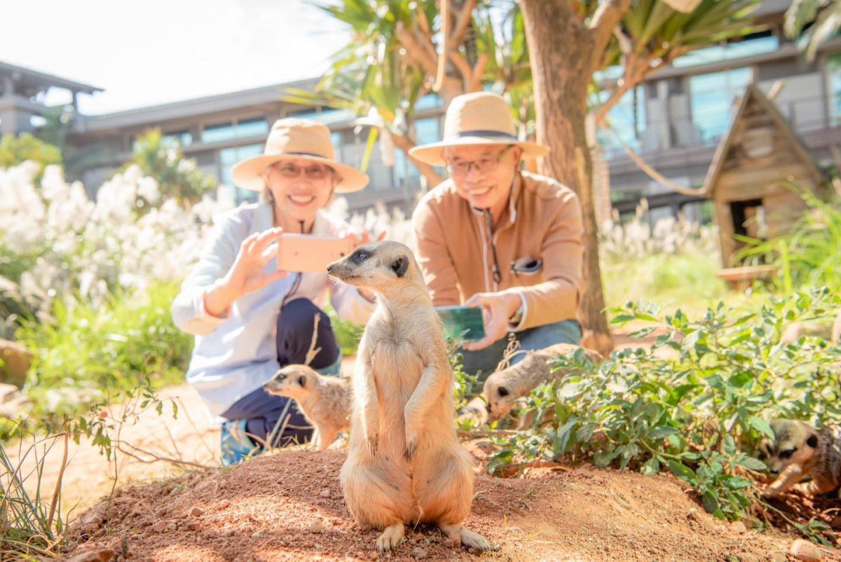
[[[336,178],[331,167],[298,158],[275,162],[266,173],[276,212],[287,220],[303,220],[308,225],[330,201]]]

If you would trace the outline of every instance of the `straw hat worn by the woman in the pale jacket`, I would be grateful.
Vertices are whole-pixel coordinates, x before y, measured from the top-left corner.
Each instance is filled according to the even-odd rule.
[[[336,162],[336,150],[330,140],[330,129],[309,119],[278,119],[272,125],[262,156],[239,162],[231,170],[234,183],[244,189],[262,191],[266,186],[263,172],[281,160],[301,158],[333,168],[339,182],[336,193],[348,194],[368,185],[368,176],[354,167]]]

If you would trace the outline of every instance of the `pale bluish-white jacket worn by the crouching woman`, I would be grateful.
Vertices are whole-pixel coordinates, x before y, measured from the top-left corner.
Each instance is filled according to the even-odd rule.
[[[259,389],[278,370],[278,313],[283,297],[302,275],[292,299],[305,297],[323,308],[326,289],[342,319],[365,323],[374,305],[352,286],[332,284],[327,273],[293,273],[236,300],[225,318],[204,309],[204,293],[225,277],[240,245],[252,233],[272,228],[272,206],[246,204],[214,217],[214,226],[193,271],[184,279],[172,303],[172,320],[196,337],[187,381],[198,390],[209,410],[220,415]],[[324,211],[315,217],[313,234],[341,236],[350,226]],[[266,270],[277,268],[275,259]]]

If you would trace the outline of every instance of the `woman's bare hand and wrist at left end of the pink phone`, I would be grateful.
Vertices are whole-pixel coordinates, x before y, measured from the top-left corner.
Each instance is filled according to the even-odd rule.
[[[204,310],[207,310],[209,315],[222,315],[235,300],[289,274],[287,271],[265,273],[267,263],[275,257],[273,244],[281,236],[282,228],[270,228],[252,234],[242,241],[228,273],[213,289],[204,293]]]

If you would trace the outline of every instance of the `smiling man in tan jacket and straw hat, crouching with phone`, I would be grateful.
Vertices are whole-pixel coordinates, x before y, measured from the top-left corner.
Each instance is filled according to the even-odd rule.
[[[436,306],[483,308],[485,337],[463,349],[465,371],[481,370],[482,379],[503,358],[509,332],[522,350],[581,339],[579,199],[520,170],[549,149],[515,131],[505,99],[468,93],[450,103],[443,140],[410,151],[450,175],[412,215],[415,250]]]

